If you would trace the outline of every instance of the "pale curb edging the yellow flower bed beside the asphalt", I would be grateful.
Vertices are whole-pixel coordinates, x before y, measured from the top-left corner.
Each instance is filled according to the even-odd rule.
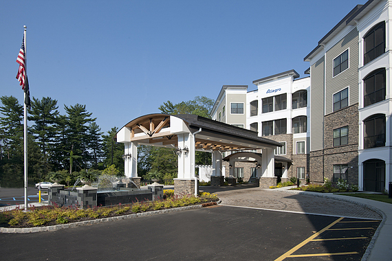
[[[111,221],[117,221],[122,219],[129,219],[129,218],[139,218],[142,216],[155,216],[157,214],[165,214],[171,212],[180,212],[188,209],[197,209],[201,208],[202,205],[193,205],[187,207],[176,207],[171,209],[162,209],[156,210],[152,212],[143,212],[143,213],[136,213],[136,214],[129,214],[124,216],[113,216],[110,218],[98,218],[94,220],[85,220],[75,223],[63,224],[63,225],[53,225],[47,227],[25,227],[25,228],[10,228],[10,227],[0,227],[0,233],[36,233],[36,232],[43,232],[43,231],[57,231],[60,229],[68,229],[71,227],[80,227],[85,225],[93,225],[98,223],[105,223]]]

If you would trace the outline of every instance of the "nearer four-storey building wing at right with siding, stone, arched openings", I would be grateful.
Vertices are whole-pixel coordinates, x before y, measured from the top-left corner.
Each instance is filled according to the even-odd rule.
[[[382,192],[391,181],[391,4],[357,5],[304,58],[314,182],[344,179]]]

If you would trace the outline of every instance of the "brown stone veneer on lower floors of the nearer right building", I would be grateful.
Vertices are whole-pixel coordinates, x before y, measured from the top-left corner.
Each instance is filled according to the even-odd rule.
[[[358,185],[358,104],[354,104],[324,117],[324,150],[310,152],[310,180],[323,183],[333,180],[334,165],[347,164],[348,183]],[[334,147],[334,129],[349,127],[349,141]]]

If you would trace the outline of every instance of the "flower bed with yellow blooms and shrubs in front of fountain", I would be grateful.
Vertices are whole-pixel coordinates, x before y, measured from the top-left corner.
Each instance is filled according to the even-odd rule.
[[[166,192],[171,194],[170,192]],[[170,209],[173,207],[185,207],[189,205],[199,205],[218,201],[216,194],[203,192],[196,196],[167,196],[159,201],[135,202],[132,204],[116,205],[111,207],[94,207],[89,209],[76,209],[71,207],[31,207],[29,212],[23,209],[13,209],[0,213],[0,227],[42,227],[74,223],[96,218],[109,218],[112,216],[122,216],[140,212],[149,212],[160,209]]]

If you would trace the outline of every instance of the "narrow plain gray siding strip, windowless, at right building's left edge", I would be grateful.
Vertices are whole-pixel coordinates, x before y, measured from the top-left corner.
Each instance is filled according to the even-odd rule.
[[[310,150],[323,149],[324,56],[312,65],[310,84]]]

